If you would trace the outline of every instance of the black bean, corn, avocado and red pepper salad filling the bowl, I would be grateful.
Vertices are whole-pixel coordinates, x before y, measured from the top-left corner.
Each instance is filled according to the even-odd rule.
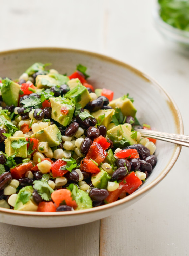
[[[73,211],[129,196],[157,163],[156,140],[135,131],[151,126],[128,93],[94,89],[85,66],[46,66],[0,78],[0,207]]]

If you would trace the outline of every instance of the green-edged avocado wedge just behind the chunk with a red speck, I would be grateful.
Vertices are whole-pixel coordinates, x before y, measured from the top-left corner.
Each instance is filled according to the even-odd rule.
[[[67,92],[64,96],[65,98],[74,99],[76,103],[79,103],[81,107],[85,107],[87,103],[91,100],[90,94],[85,86],[80,83],[72,90]]]

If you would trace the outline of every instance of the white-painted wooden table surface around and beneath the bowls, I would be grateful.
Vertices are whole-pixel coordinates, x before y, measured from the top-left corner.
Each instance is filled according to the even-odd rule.
[[[150,0],[2,1],[0,50],[57,46],[107,54],[155,78],[189,134],[189,58],[153,26]],[[163,125],[163,124],[162,124]],[[189,255],[189,151],[143,199],[111,217],[67,228],[0,223],[0,255]]]

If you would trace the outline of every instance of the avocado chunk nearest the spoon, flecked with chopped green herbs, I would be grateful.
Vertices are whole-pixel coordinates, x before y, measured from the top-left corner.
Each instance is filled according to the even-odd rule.
[[[137,144],[137,141],[132,139],[131,136],[132,133],[122,124],[107,131],[107,137],[113,141],[115,148],[123,148]]]

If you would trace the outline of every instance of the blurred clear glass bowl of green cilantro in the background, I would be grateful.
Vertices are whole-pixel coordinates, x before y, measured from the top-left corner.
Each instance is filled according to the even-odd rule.
[[[157,30],[165,39],[189,50],[188,0],[158,0],[154,20]]]

